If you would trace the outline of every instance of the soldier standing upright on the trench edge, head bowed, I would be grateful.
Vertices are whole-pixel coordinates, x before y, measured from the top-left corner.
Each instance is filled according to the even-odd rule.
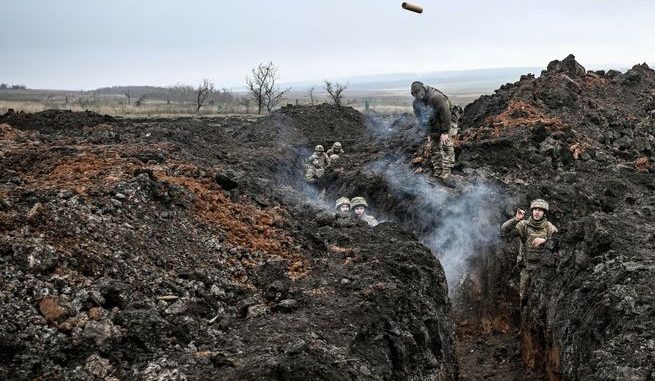
[[[414,97],[414,115],[421,125],[428,128],[432,175],[448,184],[455,165],[452,139],[457,134],[457,119],[461,108],[453,107],[441,91],[425,86],[422,82],[412,83],[411,93]]]

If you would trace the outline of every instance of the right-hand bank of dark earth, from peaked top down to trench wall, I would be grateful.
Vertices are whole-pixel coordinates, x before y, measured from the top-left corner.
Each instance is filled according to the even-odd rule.
[[[569,56],[465,111],[461,165],[517,197],[507,218],[546,198],[560,231],[521,312],[524,363],[550,379],[655,376],[654,89],[646,65],[586,72]],[[515,250],[498,246],[481,270],[491,303],[515,292],[503,276]]]

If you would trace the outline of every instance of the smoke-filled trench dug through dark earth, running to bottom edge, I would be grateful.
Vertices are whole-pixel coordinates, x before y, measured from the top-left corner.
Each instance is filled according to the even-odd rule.
[[[467,178],[454,189],[435,184],[425,173],[414,173],[409,149],[416,145],[389,149],[358,171],[328,171],[319,185],[323,200],[302,179],[296,179],[296,189],[305,189],[311,203],[329,211],[341,196],[364,196],[380,222],[400,224],[432,250],[448,280],[461,380],[546,379],[521,356],[517,248],[499,236],[511,195]],[[295,168],[308,151],[297,150]]]

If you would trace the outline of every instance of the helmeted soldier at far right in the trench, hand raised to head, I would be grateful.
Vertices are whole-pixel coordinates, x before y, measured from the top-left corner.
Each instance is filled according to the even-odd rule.
[[[542,246],[546,240],[557,233],[555,225],[550,223],[545,214],[548,211],[548,203],[542,199],[536,199],[530,203],[530,218],[524,220],[525,211],[519,209],[516,216],[507,220],[500,228],[503,237],[517,236],[520,239],[519,255],[516,259],[521,269],[521,281],[519,295],[521,302],[524,302],[526,290],[530,286],[532,273],[539,266],[542,255]]]

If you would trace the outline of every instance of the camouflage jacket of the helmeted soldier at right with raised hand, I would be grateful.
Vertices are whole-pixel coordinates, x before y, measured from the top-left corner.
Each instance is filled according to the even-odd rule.
[[[505,221],[500,228],[500,232],[503,237],[519,237],[521,242],[519,258],[525,259],[528,262],[538,262],[543,245],[533,247],[532,241],[535,238],[551,239],[553,234],[557,233],[557,228],[545,218],[539,221],[539,223],[532,219],[519,221],[516,218],[510,218]]]

